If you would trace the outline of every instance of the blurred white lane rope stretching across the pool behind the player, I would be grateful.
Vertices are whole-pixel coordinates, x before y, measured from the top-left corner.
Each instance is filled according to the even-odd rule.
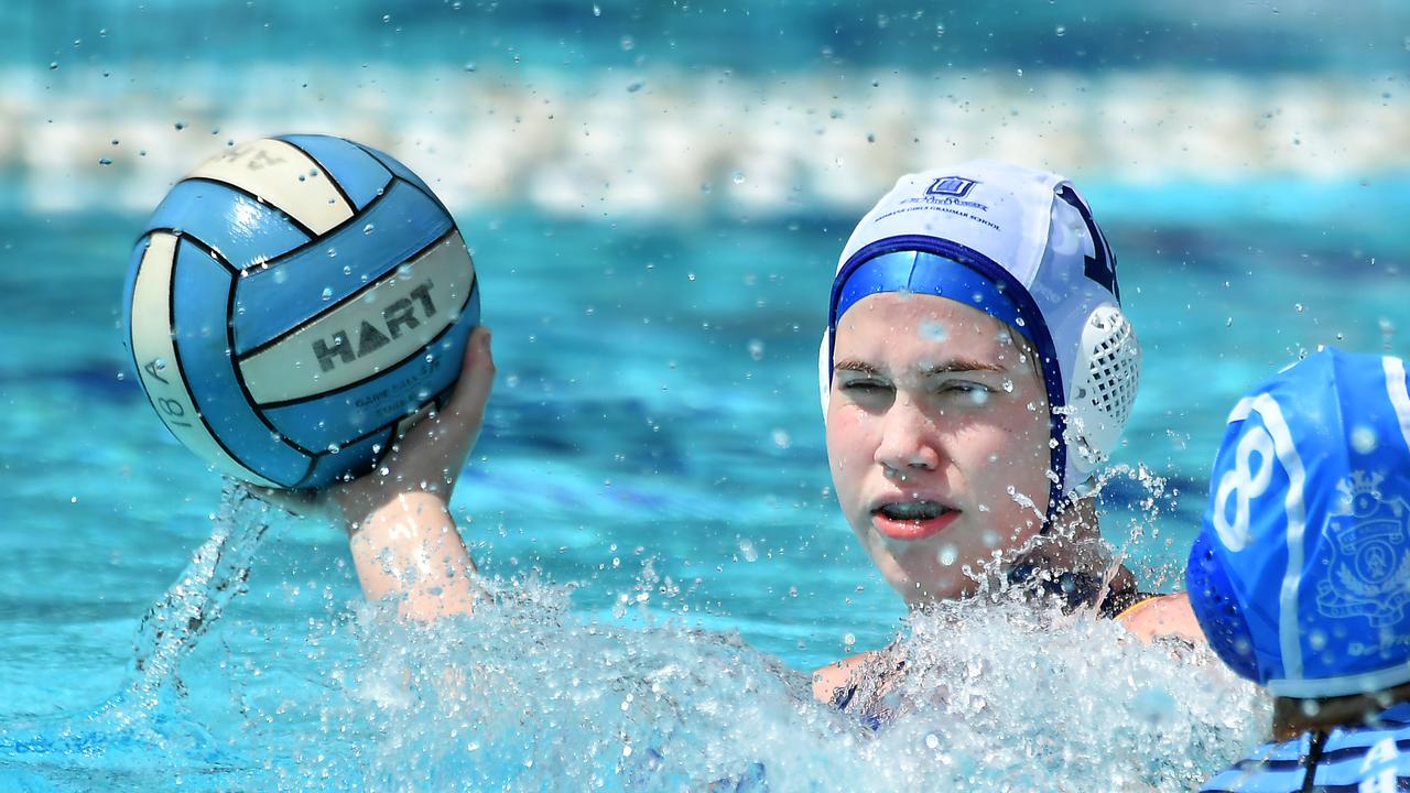
[[[893,174],[977,155],[1145,186],[1410,172],[1400,75],[138,69],[159,71],[0,66],[4,199],[138,212],[182,164],[295,130],[405,152],[455,207],[587,219],[852,213]]]

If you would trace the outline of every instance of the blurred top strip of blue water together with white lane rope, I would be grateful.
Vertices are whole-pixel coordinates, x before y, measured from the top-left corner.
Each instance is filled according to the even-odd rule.
[[[20,1],[0,10],[0,168],[21,207],[145,212],[227,140],[336,130],[465,210],[589,220],[850,217],[895,175],[973,155],[1132,188],[1356,181],[1410,157],[1407,17],[1393,0]]]

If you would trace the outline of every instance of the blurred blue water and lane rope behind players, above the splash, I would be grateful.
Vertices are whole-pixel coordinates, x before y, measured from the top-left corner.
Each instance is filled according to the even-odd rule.
[[[111,693],[212,532],[120,299],[145,213],[234,141],[350,137],[454,210],[501,371],[457,494],[489,574],[582,581],[603,619],[689,604],[799,669],[902,614],[836,515],[815,374],[898,175],[991,157],[1086,193],[1146,356],[1104,523],[1146,586],[1180,584],[1239,394],[1318,344],[1410,353],[1397,0],[21,0],[0,40],[0,717]],[[344,545],[272,532],[227,676],[317,677]]]

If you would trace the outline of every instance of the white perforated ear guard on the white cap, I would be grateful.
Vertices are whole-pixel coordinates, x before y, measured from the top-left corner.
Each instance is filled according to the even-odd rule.
[[[1141,343],[1121,309],[1103,303],[1081,329],[1067,388],[1069,459],[1083,474],[1105,461],[1121,439],[1141,387]]]

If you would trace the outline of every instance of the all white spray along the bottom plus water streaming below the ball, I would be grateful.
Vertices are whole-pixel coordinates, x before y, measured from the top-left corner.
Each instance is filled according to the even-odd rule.
[[[846,713],[670,604],[627,598],[599,621],[530,579],[486,581],[494,603],[431,625],[360,607],[347,626],[361,652],[310,648],[321,676],[243,691],[234,727],[185,717],[182,662],[244,591],[266,509],[227,490],[210,540],[144,619],[127,696],[44,730],[35,756],[110,780],[175,769],[212,790],[1186,790],[1268,724],[1265,698],[1207,650],[1142,643],[995,576],[914,614],[854,676]],[[643,591],[657,583],[647,566]],[[250,731],[290,718],[298,730]]]

